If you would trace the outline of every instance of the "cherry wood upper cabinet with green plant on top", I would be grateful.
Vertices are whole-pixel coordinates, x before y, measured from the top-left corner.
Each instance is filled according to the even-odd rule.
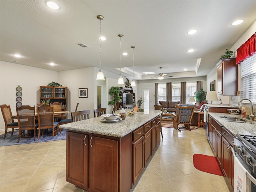
[[[222,59],[219,63],[220,65],[217,68],[218,95],[237,95],[238,66],[236,64],[236,58]]]

